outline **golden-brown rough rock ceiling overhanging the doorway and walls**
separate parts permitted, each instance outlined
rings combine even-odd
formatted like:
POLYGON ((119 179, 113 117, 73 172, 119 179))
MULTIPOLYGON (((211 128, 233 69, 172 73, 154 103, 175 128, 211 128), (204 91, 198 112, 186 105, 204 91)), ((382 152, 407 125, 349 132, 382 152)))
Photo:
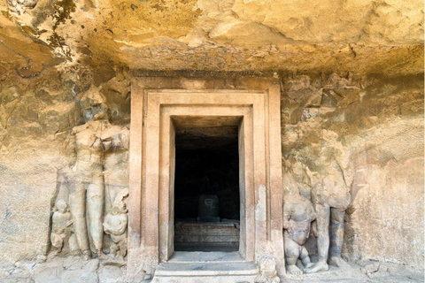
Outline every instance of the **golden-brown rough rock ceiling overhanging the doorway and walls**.
POLYGON ((423 73, 422 0, 0 0, 0 79, 51 66, 423 73))

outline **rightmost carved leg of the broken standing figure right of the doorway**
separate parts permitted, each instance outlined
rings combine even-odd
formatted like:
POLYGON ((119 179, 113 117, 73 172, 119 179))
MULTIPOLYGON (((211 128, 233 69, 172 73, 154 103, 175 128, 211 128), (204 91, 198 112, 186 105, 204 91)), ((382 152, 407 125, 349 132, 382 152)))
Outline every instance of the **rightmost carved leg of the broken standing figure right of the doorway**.
POLYGON ((341 253, 344 241, 344 215, 345 210, 330 209, 330 264, 340 266, 341 253))

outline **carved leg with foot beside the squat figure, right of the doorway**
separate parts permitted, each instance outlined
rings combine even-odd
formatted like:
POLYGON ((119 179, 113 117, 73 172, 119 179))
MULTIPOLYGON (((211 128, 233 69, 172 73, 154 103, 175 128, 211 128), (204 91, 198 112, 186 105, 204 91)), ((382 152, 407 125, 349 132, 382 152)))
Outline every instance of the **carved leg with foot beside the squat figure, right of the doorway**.
POLYGON ((328 251, 329 251, 329 217, 330 208, 328 203, 314 203, 317 218, 317 250, 319 261, 305 273, 328 271, 328 251))

